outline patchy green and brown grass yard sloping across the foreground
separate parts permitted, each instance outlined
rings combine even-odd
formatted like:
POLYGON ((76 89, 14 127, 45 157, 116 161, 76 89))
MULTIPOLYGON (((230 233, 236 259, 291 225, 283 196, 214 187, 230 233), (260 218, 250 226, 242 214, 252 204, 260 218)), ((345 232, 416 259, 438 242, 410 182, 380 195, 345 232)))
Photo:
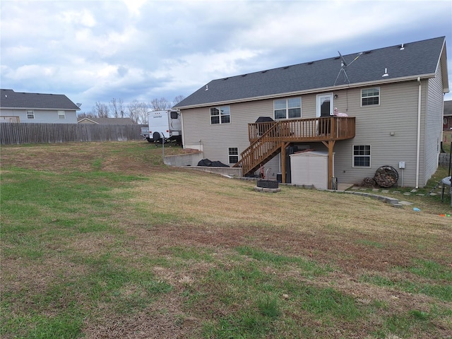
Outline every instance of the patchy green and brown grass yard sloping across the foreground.
POLYGON ((254 185, 145 142, 2 147, 1 338, 452 338, 448 203, 254 185))

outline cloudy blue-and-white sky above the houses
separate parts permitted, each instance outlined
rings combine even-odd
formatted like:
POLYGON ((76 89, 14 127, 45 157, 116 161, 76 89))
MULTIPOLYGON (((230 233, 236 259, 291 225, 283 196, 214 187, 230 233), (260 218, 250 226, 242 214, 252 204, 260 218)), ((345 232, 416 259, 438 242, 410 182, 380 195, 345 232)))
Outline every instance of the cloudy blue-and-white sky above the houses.
POLYGON ((1 0, 0 34, 1 88, 64 94, 81 112, 113 98, 172 102, 217 78, 440 36, 452 84, 447 0, 1 0))

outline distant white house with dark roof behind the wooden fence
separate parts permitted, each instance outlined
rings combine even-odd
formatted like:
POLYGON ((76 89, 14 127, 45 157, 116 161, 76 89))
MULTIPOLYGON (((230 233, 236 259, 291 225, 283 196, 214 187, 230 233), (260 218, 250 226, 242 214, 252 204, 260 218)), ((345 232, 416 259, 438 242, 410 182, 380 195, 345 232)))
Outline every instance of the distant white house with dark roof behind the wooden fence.
POLYGON ((0 92, 0 122, 77 124, 80 108, 66 95, 0 92))

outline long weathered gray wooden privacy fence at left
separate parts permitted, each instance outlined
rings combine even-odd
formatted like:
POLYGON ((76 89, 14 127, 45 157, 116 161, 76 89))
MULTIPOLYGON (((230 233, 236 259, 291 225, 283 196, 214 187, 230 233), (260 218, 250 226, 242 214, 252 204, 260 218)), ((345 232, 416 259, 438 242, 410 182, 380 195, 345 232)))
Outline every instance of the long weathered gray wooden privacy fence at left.
POLYGON ((0 144, 141 140, 141 126, 0 123, 0 144))

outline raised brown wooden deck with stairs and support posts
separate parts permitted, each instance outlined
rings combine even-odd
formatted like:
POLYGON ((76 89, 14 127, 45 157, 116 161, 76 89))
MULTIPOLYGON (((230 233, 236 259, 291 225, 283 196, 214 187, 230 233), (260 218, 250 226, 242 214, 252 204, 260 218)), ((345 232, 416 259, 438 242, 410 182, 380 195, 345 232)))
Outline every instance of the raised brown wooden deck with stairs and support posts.
MULTIPOLYGON (((328 148, 328 182, 333 173, 333 147, 335 141, 355 137, 355 117, 323 117, 292 119, 248 124, 250 145, 234 167, 242 167, 242 175, 255 172, 261 165, 281 153, 290 143, 321 142, 328 148)), ((285 182, 285 162, 282 162, 285 182)))

